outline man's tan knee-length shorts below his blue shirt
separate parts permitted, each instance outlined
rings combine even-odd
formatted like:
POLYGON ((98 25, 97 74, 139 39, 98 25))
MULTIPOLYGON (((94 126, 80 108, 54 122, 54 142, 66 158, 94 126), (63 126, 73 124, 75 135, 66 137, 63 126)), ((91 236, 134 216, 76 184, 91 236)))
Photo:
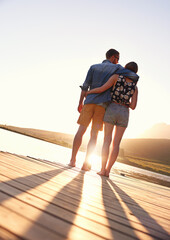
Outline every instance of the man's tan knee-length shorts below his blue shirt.
POLYGON ((97 104, 85 104, 77 123, 88 127, 92 120, 92 129, 102 131, 104 114, 104 107, 97 104))

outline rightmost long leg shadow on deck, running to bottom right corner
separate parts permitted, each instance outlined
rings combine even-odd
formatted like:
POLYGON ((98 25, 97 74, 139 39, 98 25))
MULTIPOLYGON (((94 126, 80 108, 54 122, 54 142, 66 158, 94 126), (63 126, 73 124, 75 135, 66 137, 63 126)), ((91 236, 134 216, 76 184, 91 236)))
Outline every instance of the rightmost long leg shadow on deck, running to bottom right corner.
POLYGON ((122 199, 122 202, 124 202, 126 204, 126 206, 128 207, 128 209, 131 211, 131 213, 136 218, 138 218, 138 220, 145 227, 146 232, 148 232, 148 234, 150 236, 154 237, 154 239, 160 239, 160 240, 169 239, 169 233, 165 229, 163 229, 163 227, 161 225, 159 225, 155 219, 153 219, 150 216, 149 212, 147 212, 145 209, 143 209, 127 193, 125 193, 120 187, 118 187, 115 183, 113 183, 112 180, 108 179, 106 181, 108 181, 108 183, 110 183, 112 185, 114 190, 117 192, 117 194, 122 199), (150 226, 148 226, 148 225, 150 225, 150 226))

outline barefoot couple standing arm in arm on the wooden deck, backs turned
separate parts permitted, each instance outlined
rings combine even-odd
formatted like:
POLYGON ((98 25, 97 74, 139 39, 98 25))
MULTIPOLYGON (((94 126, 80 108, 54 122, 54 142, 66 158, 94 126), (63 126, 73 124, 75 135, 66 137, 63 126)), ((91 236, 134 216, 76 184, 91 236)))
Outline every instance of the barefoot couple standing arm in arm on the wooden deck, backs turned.
POLYGON ((90 140, 82 166, 82 170, 89 171, 91 169, 89 157, 96 146, 98 132, 103 130, 104 121, 102 168, 98 174, 107 177, 109 177, 110 170, 116 161, 119 145, 128 125, 129 108, 135 109, 138 95, 136 87, 139 79, 136 74, 137 64, 130 62, 123 68, 118 64, 118 61, 119 52, 115 49, 108 50, 106 60, 100 64, 92 65, 83 86, 80 86, 82 89, 78 105, 80 116, 77 121, 79 128, 74 137, 69 163, 69 166, 75 166, 76 155, 81 146, 83 135, 92 120, 90 140), (115 134, 112 140, 114 126, 115 134), (111 142, 112 149, 109 154, 111 142))

